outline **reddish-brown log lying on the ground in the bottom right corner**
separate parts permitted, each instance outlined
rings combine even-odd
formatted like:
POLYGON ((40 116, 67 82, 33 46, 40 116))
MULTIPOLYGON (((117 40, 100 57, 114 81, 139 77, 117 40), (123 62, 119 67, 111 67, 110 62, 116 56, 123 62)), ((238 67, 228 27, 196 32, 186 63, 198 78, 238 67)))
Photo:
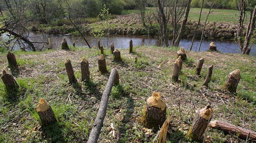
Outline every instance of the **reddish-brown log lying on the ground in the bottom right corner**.
POLYGON ((221 120, 214 120, 209 123, 211 128, 217 128, 218 130, 222 130, 227 134, 238 135, 240 139, 256 141, 256 132, 253 130, 248 130, 246 128, 242 128, 239 126, 235 126, 228 122, 224 122, 221 120))

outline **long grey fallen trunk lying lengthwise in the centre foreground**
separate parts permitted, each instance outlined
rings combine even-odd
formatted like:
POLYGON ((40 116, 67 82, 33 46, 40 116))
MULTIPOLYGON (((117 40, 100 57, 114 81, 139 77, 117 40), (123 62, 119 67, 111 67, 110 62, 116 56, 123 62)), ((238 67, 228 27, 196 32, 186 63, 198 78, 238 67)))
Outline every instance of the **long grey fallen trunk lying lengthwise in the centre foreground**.
POLYGON ((106 88, 103 91, 103 94, 102 94, 102 97, 100 100, 99 110, 98 110, 97 116, 94 120, 93 127, 91 128, 91 132, 90 132, 89 139, 88 139, 87 143, 97 143, 98 142, 100 130, 103 126, 103 121, 106 116, 106 108, 108 106, 108 98, 111 93, 111 89, 113 87, 114 81, 116 80, 115 78, 117 77, 116 76, 117 72, 118 72, 117 69, 111 70, 110 76, 108 78, 108 82, 106 84, 106 88))

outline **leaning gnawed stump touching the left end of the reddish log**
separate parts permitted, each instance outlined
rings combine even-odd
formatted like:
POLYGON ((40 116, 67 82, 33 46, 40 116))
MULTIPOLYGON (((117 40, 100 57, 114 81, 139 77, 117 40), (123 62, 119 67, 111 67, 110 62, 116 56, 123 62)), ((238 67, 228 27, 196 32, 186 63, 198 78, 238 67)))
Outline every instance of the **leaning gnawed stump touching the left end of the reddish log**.
POLYGON ((208 126, 208 122, 212 119, 213 110, 210 105, 206 105, 204 109, 201 109, 193 120, 192 126, 188 132, 187 137, 192 141, 199 141, 204 135, 204 131, 208 126))

